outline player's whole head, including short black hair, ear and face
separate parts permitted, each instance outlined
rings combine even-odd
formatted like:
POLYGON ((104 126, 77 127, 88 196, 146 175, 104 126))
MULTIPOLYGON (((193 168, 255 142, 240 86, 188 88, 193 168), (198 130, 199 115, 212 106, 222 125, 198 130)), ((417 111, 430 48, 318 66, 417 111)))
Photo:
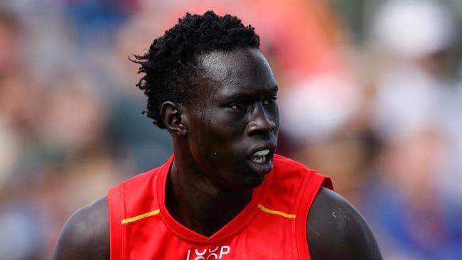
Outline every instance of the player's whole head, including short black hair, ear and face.
POLYGON ((278 87, 258 46, 253 28, 209 11, 180 19, 138 57, 148 116, 201 180, 248 189, 272 170, 278 87))

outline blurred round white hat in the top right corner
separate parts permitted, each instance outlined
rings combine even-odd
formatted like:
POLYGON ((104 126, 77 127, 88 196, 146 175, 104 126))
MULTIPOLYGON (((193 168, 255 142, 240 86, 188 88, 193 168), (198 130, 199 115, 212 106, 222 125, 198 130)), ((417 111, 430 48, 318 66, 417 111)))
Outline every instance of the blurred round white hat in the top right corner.
POLYGON ((374 23, 375 44, 402 61, 424 58, 456 39, 451 16, 439 1, 387 1, 374 23))

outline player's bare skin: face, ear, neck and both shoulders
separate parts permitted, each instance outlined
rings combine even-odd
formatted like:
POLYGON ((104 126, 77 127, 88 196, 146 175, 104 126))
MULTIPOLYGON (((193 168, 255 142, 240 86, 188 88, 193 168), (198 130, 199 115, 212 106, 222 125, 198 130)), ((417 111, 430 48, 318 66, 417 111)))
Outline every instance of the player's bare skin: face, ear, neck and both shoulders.
MULTIPOLYGON (((208 79, 200 101, 161 108, 175 156, 166 207, 185 227, 210 236, 248 204, 272 170, 279 109, 276 82, 259 50, 216 51, 198 61, 208 79), (255 163, 252 154, 262 149, 270 150, 267 161, 255 163)), ((382 259, 367 222, 332 190, 321 188, 306 221, 312 259, 382 259)), ((70 217, 53 259, 109 259, 106 197, 70 217)))

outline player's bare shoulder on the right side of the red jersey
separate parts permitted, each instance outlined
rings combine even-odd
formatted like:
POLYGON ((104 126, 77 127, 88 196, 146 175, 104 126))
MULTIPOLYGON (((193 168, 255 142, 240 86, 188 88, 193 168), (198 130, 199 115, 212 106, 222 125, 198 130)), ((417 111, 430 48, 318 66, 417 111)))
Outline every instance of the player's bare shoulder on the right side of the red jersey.
POLYGON ((306 221, 311 258, 382 259, 372 230, 348 200, 321 188, 306 221))

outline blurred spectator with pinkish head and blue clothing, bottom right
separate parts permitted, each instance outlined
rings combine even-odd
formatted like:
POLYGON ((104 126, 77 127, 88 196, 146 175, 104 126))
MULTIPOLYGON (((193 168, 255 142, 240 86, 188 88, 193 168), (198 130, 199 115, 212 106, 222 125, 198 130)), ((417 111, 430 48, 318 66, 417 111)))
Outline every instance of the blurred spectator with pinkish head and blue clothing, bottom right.
POLYGON ((434 126, 389 141, 375 168, 362 212, 385 259, 458 259, 462 205, 441 193, 446 136, 434 126))

